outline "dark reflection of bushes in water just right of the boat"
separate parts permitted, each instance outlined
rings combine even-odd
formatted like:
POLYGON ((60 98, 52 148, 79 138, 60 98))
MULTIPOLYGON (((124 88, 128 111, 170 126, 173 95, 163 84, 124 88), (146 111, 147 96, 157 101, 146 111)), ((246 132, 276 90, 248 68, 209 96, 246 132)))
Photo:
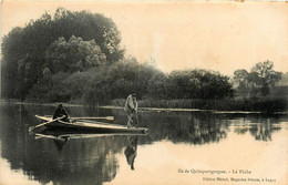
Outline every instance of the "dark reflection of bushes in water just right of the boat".
POLYGON ((213 114, 143 113, 141 122, 147 124, 153 141, 203 145, 226 138, 229 123, 213 114), (146 115, 148 114, 148 115, 146 115), (160 116, 161 115, 161 116, 160 116))

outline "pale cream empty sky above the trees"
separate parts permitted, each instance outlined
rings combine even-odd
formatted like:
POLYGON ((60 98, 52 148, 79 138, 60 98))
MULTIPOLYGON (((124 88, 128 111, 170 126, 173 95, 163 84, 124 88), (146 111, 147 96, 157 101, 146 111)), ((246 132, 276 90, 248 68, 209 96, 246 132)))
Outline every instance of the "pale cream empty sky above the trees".
POLYGON ((232 75, 266 60, 276 71, 288 71, 287 2, 4 0, 1 38, 59 7, 112 18, 126 54, 141 62, 153 59, 164 72, 206 69, 232 75))

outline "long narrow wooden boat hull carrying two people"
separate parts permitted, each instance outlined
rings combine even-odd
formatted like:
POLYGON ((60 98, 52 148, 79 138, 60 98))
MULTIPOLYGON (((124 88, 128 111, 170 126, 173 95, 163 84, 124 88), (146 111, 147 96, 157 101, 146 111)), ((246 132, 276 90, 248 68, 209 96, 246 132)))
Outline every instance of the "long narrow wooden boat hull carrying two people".
MULTIPOLYGON (((51 116, 35 115, 41 122, 51 122, 51 116)), ((146 133, 146 127, 127 127, 119 124, 110 124, 99 121, 75 120, 74 122, 64 122, 61 120, 45 124, 50 130, 61 130, 71 132, 90 132, 90 133, 146 133)))

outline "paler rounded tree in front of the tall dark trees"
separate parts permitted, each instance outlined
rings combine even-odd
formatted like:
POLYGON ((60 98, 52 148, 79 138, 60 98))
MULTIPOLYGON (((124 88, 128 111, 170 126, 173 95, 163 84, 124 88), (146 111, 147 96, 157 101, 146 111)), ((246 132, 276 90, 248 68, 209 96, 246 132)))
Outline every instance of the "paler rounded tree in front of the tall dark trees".
POLYGON ((59 38, 47 50, 45 64, 52 73, 84 71, 106 64, 106 56, 94 40, 83 41, 72 35, 66 42, 59 38))

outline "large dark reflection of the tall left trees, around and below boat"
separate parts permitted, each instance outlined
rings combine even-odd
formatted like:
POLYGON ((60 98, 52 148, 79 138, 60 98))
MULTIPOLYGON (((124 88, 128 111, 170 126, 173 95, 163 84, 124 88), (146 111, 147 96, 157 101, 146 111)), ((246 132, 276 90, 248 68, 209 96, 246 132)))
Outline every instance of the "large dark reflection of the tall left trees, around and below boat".
POLYGON ((1 107, 1 157, 11 163, 11 169, 22 169, 42 184, 102 184, 114 179, 119 167, 115 154, 125 147, 126 136, 34 140, 28 127, 38 122, 35 113, 28 110, 1 107))

